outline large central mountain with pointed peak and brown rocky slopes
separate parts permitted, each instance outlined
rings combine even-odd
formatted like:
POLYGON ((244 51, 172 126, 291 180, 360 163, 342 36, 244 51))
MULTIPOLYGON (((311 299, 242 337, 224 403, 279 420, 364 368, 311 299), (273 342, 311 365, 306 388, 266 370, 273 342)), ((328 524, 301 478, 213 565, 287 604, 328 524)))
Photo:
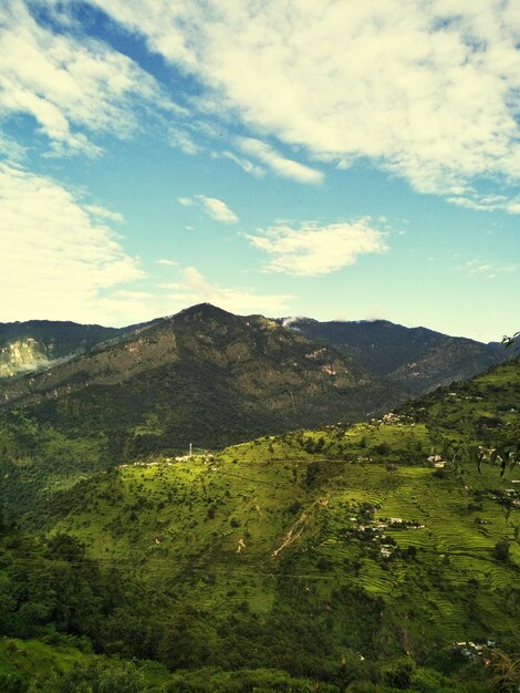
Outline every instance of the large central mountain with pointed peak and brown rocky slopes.
POLYGON ((404 393, 273 320, 200 304, 4 380, 0 399, 67 436, 104 436, 121 459, 358 421, 404 393))

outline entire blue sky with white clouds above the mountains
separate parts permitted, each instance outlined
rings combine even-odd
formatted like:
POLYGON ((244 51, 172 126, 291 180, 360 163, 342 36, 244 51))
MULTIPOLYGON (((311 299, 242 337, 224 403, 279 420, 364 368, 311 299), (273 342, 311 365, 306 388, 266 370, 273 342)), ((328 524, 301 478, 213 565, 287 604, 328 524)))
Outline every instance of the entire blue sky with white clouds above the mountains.
POLYGON ((0 321, 520 329, 518 0, 2 0, 0 321))

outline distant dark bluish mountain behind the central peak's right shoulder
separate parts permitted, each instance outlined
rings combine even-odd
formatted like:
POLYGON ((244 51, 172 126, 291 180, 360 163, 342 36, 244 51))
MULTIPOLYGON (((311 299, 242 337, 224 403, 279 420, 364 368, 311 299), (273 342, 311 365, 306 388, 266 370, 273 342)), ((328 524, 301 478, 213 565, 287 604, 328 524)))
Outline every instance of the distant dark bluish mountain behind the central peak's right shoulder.
POLYGON ((415 394, 472 377, 507 355, 490 344, 386 320, 319 322, 285 318, 281 323, 340 349, 370 372, 397 381, 415 394))

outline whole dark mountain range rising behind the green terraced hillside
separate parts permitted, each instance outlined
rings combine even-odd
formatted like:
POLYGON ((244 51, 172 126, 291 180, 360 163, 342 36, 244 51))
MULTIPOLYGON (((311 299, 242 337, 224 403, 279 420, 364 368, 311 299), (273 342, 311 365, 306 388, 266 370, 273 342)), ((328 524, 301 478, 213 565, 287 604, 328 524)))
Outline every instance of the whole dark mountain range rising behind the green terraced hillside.
POLYGON ((202 303, 119 330, 3 324, 0 359, 1 373, 14 373, 0 379, 3 410, 23 407, 67 436, 104 436, 119 459, 377 416, 502 356, 424 328, 239 317, 202 303))

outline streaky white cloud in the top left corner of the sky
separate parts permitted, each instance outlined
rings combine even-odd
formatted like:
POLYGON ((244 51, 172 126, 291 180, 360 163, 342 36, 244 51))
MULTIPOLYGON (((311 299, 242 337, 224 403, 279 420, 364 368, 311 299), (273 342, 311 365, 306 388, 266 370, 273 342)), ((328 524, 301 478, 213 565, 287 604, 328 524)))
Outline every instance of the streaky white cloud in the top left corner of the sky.
POLYGON ((129 58, 93 39, 53 33, 22 0, 2 3, 0 41, 0 118, 32 116, 51 156, 97 156, 91 136, 128 137, 143 108, 148 115, 185 113, 129 58))

